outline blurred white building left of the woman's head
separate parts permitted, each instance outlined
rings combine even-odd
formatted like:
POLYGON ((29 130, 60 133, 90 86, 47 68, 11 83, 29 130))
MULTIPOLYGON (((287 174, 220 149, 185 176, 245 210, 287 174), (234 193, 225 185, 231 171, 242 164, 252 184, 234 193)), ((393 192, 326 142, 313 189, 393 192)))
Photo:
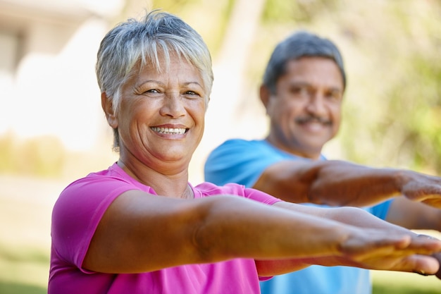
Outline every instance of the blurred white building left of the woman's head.
POLYGON ((0 0, 0 136, 89 149, 105 127, 94 74, 123 0, 0 0), (100 129, 100 130, 99 130, 100 129))

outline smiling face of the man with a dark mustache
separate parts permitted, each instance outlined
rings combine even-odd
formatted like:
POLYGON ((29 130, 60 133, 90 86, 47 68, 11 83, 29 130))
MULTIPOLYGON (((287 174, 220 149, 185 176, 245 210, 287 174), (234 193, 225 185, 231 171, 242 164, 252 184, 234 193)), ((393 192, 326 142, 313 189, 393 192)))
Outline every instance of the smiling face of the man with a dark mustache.
POLYGON ((332 59, 289 61, 275 94, 267 92, 266 101, 261 97, 271 118, 269 142, 286 152, 318 159, 323 145, 340 127, 343 92, 342 74, 332 59))

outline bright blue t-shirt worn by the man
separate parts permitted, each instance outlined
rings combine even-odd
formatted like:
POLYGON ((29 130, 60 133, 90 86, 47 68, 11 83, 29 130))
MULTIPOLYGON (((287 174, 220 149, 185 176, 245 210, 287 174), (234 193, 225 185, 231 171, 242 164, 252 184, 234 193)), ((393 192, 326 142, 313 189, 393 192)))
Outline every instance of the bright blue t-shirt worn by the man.
MULTIPOLYGON (((209 154, 204 167, 205 180, 216 185, 239 183, 252 187, 268 166, 282 160, 309 159, 277 149, 266 140, 227 140, 209 154)), ((390 202, 389 200, 364 209, 385 219, 390 202)), ((261 282, 261 293, 371 294, 372 283, 367 269, 313 265, 261 282)))

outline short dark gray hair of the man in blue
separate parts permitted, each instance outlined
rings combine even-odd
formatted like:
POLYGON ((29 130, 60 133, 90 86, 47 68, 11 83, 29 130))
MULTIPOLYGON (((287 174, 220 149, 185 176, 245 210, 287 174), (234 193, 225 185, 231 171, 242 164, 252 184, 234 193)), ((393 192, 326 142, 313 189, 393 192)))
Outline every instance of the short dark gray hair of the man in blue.
POLYGON ((347 80, 343 59, 337 46, 330 39, 318 37, 318 35, 305 31, 295 32, 275 47, 263 74, 263 85, 275 94, 276 83, 280 76, 286 73, 288 61, 301 59, 305 56, 320 56, 335 61, 342 74, 343 87, 346 87, 347 80))

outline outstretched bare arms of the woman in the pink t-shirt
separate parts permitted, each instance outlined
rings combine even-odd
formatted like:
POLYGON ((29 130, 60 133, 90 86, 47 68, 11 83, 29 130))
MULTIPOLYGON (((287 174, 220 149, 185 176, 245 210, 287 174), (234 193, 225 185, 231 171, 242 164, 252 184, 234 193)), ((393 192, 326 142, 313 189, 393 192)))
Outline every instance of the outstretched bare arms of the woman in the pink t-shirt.
MULTIPOLYGON (((108 207, 83 267, 135 273, 237 257, 316 258, 318 263, 325 257, 334 265, 437 271, 436 260, 417 255, 440 251, 440 241, 413 238, 410 231, 383 221, 375 227, 357 226, 361 220, 349 225, 344 222, 350 223, 354 215, 346 217, 345 209, 330 213, 284 205, 228 195, 177 200, 130 190, 108 207)), ((368 214, 364 218, 375 219, 368 214)), ((258 264, 259 274, 268 274, 263 265, 258 264)))

